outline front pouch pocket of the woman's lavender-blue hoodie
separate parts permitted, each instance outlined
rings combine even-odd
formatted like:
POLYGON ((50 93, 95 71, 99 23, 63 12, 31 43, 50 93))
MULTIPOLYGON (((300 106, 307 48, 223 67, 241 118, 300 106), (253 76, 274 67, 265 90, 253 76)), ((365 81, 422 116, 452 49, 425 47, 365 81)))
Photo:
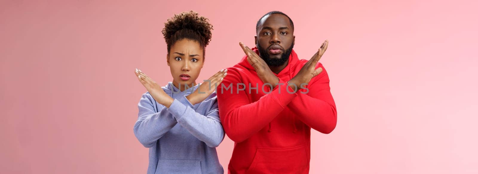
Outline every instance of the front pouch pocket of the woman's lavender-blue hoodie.
POLYGON ((154 174, 201 174, 201 161, 160 159, 154 174))

